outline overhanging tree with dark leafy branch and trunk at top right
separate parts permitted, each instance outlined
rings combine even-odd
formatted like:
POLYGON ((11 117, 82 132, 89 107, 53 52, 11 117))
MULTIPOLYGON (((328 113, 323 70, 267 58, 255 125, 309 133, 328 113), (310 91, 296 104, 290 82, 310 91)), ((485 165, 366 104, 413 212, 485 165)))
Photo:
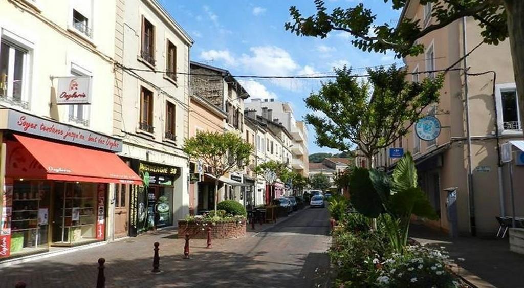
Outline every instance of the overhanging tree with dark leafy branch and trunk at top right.
MULTIPOLYGON (((405 8, 410 0, 384 0, 392 8, 405 8)), ((423 53, 424 46, 417 39, 431 31, 441 29, 462 17, 473 17, 483 29, 484 42, 498 45, 509 37, 513 70, 517 84, 521 122, 524 123, 524 1, 522 0, 420 0, 430 4, 434 19, 425 26, 424 21, 403 17, 396 27, 376 24, 376 15, 363 3, 343 9, 337 7, 331 13, 322 0, 314 0, 316 14, 303 17, 296 6, 289 8, 291 21, 286 30, 299 36, 325 38, 332 31, 343 31, 353 38, 351 43, 363 51, 396 52, 397 57, 416 56, 423 53)))

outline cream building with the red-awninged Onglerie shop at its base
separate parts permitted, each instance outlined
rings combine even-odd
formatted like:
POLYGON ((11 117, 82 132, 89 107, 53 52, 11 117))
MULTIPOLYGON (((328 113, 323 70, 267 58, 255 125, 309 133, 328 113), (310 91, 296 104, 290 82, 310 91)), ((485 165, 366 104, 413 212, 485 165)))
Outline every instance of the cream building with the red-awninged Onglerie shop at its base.
POLYGON ((115 14, 111 0, 0 2, 0 261, 119 233, 115 187, 142 181, 112 136, 115 14))

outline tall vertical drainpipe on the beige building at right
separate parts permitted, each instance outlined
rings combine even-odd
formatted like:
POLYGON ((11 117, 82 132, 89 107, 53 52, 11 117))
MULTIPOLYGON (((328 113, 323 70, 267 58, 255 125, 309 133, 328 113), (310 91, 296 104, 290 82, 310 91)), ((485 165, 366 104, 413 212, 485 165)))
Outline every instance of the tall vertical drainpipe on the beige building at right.
MULTIPOLYGON (((462 17, 462 49, 464 56, 467 54, 467 43, 466 43, 466 17, 462 17)), ((466 110, 466 137, 467 137, 467 189, 469 198, 469 211, 470 211, 470 232, 472 236, 476 235, 475 225, 475 197, 473 190, 473 167, 471 164, 471 131, 470 131, 470 98, 467 84, 467 57, 464 57, 464 97, 466 110)))

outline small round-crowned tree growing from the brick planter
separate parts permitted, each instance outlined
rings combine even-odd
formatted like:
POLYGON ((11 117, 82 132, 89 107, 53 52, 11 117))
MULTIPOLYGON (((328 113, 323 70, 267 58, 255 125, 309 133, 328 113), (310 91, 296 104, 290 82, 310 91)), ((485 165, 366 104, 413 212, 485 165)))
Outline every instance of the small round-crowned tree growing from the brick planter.
POLYGON ((234 132, 198 132, 186 139, 183 151, 190 159, 203 161, 215 178, 215 213, 219 201, 219 178, 234 168, 243 168, 253 146, 234 132))

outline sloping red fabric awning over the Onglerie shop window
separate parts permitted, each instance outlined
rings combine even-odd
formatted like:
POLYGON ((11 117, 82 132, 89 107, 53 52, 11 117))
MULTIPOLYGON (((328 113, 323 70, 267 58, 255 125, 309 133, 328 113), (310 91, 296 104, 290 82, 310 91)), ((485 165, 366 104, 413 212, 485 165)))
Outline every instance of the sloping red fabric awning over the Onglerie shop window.
POLYGON ((14 136, 21 146, 17 147, 16 142, 7 145, 8 177, 142 184, 140 177, 116 154, 26 136, 14 136))

